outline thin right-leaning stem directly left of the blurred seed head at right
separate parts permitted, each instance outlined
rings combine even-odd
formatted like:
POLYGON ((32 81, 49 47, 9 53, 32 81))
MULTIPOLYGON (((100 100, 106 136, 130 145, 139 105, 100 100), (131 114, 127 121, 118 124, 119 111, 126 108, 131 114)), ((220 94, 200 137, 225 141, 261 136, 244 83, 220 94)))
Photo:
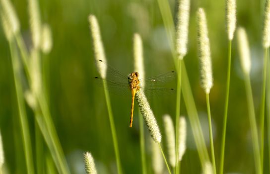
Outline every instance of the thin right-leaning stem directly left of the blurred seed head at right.
POLYGON ((229 40, 229 42, 228 42, 226 96, 225 96, 225 107, 224 107, 224 116, 223 116, 223 129, 222 129, 222 142, 221 142, 221 150, 220 150, 219 174, 223 174, 223 168, 224 168, 224 152, 225 152, 228 103, 229 103, 229 92, 230 92, 230 78, 231 78, 231 52, 232 52, 232 41, 229 40))

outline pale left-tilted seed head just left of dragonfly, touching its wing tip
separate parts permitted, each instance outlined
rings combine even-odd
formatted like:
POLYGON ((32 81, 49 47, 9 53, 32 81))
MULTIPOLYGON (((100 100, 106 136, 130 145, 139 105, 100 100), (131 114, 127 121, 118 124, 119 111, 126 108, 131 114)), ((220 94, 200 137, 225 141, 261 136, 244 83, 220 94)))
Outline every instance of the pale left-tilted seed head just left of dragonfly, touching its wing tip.
POLYGON ((105 79, 107 66, 104 63, 103 64, 100 63, 99 60, 106 62, 106 57, 105 57, 105 52, 104 52, 104 48, 103 48, 103 43, 101 40, 101 35, 100 35, 100 30, 99 30, 97 18, 96 18, 96 16, 90 14, 88 16, 88 21, 90 23, 90 30, 91 30, 92 38, 93 38, 93 45, 94 45, 94 52, 95 52, 95 59, 96 59, 96 63, 97 63, 97 68, 98 68, 98 71, 99 71, 101 78, 105 79))

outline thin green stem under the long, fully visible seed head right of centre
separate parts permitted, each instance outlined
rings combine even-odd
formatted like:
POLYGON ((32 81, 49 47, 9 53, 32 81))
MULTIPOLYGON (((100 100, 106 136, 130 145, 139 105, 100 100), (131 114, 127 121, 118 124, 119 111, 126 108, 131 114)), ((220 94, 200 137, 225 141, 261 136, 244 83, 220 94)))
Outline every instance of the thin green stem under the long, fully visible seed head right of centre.
POLYGON ((213 129, 212 129, 212 121, 211 121, 209 93, 206 93, 206 104, 207 104, 207 116, 208 116, 208 125, 209 125, 209 139, 210 139, 210 147, 211 147, 212 165, 213 165, 214 174, 216 174, 213 129))

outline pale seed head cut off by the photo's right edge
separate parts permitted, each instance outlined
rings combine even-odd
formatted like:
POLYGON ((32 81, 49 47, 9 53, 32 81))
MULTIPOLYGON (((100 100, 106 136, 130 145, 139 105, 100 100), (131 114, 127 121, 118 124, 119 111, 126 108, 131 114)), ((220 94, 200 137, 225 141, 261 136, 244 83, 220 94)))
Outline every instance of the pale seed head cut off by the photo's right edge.
POLYGON ((270 0, 266 0, 266 6, 265 6, 263 46, 265 48, 270 47, 270 0))

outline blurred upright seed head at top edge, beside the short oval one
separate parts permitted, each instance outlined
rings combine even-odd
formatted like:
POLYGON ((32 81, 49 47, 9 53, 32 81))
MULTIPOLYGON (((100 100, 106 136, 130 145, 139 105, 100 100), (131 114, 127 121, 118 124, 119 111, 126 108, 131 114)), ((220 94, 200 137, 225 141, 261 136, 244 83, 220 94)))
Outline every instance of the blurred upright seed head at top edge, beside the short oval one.
POLYGON ((38 0, 28 0, 28 10, 33 46, 39 48, 41 44, 41 20, 38 0))

